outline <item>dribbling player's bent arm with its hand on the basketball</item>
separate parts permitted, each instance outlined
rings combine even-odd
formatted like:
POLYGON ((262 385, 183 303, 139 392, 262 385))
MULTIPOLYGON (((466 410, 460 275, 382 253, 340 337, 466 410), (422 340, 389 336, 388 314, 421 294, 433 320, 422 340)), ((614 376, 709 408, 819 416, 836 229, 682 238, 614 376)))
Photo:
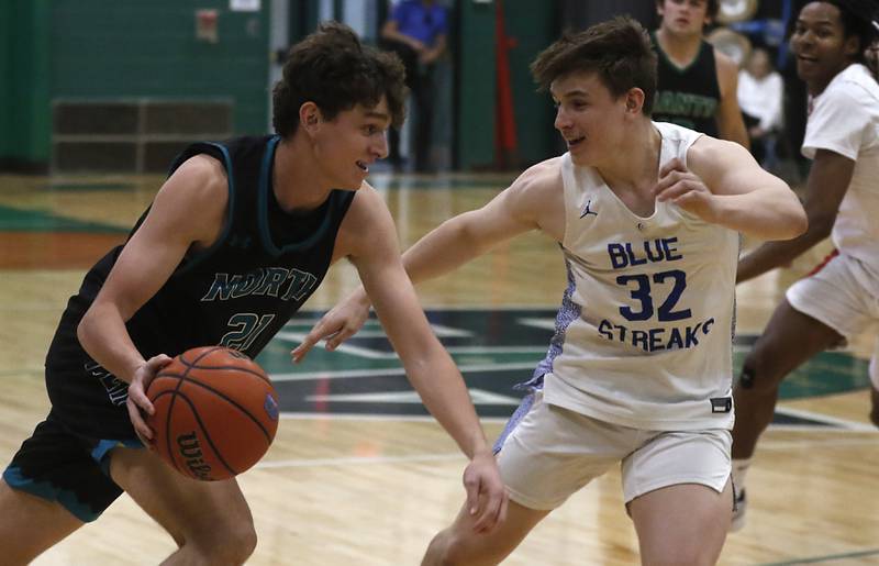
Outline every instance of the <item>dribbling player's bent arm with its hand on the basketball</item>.
POLYGON ((152 431, 140 409, 153 410, 144 388, 170 358, 156 356, 147 363, 125 322, 162 288, 191 245, 216 238, 226 200, 226 177, 219 162, 197 156, 181 165, 159 189, 77 329, 86 352, 130 384, 129 414, 144 439, 151 439, 152 431))

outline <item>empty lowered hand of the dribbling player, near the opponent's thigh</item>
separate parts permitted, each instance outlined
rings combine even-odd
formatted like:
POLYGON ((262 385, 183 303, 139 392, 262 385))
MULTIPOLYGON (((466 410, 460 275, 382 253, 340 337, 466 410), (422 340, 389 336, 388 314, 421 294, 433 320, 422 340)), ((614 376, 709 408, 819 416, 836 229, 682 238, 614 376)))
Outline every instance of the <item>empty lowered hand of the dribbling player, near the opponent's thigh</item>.
POLYGON ((490 451, 480 452, 470 460, 464 470, 464 488, 474 531, 488 533, 507 519, 507 488, 490 451))

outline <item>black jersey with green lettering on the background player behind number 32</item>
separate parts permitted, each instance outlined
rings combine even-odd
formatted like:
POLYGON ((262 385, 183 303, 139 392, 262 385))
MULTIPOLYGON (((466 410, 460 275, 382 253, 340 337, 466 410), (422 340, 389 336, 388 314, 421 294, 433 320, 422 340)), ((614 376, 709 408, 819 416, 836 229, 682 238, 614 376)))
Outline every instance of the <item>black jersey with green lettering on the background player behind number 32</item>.
POLYGON ((714 47, 703 40, 692 63, 680 68, 659 46, 656 32, 650 34, 650 40, 658 59, 656 99, 650 118, 655 122, 671 122, 716 137, 721 87, 714 47))

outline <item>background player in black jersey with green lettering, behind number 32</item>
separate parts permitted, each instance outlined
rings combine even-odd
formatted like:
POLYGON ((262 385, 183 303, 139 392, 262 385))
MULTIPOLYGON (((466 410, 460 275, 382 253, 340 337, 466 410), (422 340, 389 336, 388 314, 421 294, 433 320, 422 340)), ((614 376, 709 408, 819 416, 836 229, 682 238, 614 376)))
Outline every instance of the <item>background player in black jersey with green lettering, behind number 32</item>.
POLYGON ((719 0, 656 0, 661 18, 650 34, 658 57, 653 119, 749 147, 738 108, 738 66, 702 38, 719 0))

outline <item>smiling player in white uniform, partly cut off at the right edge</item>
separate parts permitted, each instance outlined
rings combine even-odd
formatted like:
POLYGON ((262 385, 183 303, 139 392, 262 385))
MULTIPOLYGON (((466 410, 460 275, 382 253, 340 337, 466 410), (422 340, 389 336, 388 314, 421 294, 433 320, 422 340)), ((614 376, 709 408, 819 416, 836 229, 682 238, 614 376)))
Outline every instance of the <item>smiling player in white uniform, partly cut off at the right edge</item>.
MULTIPOLYGON (((766 243, 742 258, 745 281, 783 265, 832 236, 834 254, 798 281, 745 359, 735 390, 733 475, 744 525, 745 476, 769 425, 781 380, 805 360, 879 321, 879 85, 866 48, 879 40, 875 0, 803 7, 791 35, 797 73, 811 112, 802 153, 812 159, 805 190, 809 231, 766 243)), ((879 344, 869 365, 870 418, 879 426, 879 344)))

